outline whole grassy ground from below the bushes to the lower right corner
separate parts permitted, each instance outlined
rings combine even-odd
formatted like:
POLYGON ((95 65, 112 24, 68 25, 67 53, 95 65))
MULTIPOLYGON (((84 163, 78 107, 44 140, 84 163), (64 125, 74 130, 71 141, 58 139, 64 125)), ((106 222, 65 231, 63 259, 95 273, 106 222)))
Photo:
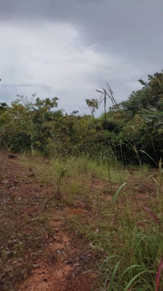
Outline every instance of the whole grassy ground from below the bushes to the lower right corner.
POLYGON ((21 163, 34 168, 37 178, 53 190, 50 198, 44 197, 46 213, 56 205, 75 206, 79 201, 89 209, 87 220, 86 213, 67 217, 67 227, 79 237, 88 238, 97 261, 102 258, 97 290, 155 291, 158 284, 161 291, 162 164, 158 170, 145 166, 122 170, 85 157, 57 161, 51 159, 47 164, 35 155, 21 163), (58 181, 65 169, 67 175, 60 180, 62 196, 58 200, 58 181))

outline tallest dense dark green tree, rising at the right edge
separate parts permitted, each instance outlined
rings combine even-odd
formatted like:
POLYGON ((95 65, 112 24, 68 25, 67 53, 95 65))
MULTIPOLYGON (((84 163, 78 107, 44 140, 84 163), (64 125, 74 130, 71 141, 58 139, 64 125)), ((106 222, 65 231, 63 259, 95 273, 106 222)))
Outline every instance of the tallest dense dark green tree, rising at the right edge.
MULTIPOLYGON (((136 162, 134 147, 140 154, 141 162, 151 161, 140 151, 148 152, 158 162, 163 148, 163 71, 148 75, 148 81, 140 79, 139 82, 143 88, 133 92, 114 111, 111 108, 108 116, 117 120, 121 114, 121 134, 117 140, 122 141, 122 155, 119 156, 123 161, 136 162)), ((120 146, 116 148, 120 153, 120 146)))

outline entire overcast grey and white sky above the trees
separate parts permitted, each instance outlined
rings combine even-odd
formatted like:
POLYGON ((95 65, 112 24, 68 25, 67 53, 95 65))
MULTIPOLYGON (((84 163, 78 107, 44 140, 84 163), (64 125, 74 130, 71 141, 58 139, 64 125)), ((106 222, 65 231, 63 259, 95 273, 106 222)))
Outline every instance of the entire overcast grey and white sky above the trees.
POLYGON ((106 81, 122 101, 161 69, 163 0, 0 0, 0 102, 36 92, 89 113, 106 81))

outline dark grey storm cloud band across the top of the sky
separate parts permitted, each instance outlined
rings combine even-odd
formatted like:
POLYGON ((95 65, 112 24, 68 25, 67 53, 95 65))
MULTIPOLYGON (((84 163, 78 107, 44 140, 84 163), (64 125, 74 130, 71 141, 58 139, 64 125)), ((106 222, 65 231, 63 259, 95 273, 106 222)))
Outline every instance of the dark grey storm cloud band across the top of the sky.
POLYGON ((162 67, 162 0, 5 0, 0 19, 71 23, 80 41, 99 51, 140 64, 151 59, 162 67))

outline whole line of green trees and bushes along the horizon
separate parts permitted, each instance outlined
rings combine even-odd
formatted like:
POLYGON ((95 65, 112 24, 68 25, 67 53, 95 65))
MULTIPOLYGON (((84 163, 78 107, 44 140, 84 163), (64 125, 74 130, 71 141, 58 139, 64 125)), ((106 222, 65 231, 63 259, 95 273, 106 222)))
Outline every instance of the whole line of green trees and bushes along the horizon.
POLYGON ((139 82, 142 89, 120 103, 110 87, 99 91, 100 99, 86 99, 90 115, 64 113, 57 97, 40 99, 35 94, 30 101, 17 96, 10 106, 0 103, 0 147, 37 150, 48 157, 87 155, 122 164, 158 163, 163 155, 163 71, 139 82), (109 108, 106 98, 113 104, 109 108), (95 118, 101 103, 104 113, 95 118))

